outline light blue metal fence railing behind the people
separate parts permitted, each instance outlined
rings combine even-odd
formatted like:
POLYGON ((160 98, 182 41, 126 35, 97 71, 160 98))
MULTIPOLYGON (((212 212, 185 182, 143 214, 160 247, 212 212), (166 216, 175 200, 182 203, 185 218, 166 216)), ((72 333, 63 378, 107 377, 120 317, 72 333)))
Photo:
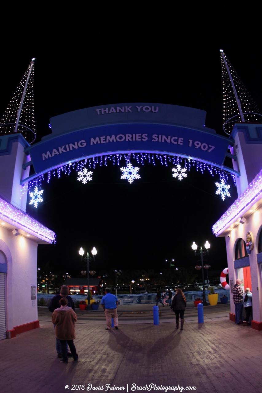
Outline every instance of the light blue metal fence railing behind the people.
MULTIPOLYGON (((223 296, 227 296, 229 298, 229 289, 218 289, 216 290, 216 293, 218 293, 218 301, 220 301, 220 298, 223 298, 223 296)), ((193 301, 196 298, 201 298, 203 300, 203 291, 188 291, 184 292, 186 301, 193 301)), ((209 290, 205 291, 205 297, 206 301, 208 302, 208 294, 210 294, 209 290)), ((174 296, 175 293, 173 293, 172 296, 174 296)), ((37 294, 37 305, 46 305, 48 306, 50 303, 50 300, 53 298, 55 295, 47 295, 47 294, 37 294), (41 300, 42 299, 42 300, 41 300)), ((71 298, 74 301, 74 304, 76 305, 77 301, 85 300, 87 298, 87 295, 70 295, 71 298)), ((97 303, 101 304, 101 299, 103 298, 104 295, 93 295, 93 299, 96 300, 97 303)), ((117 295, 119 304, 141 304, 141 303, 155 303, 156 294, 132 294, 132 295, 117 295)))

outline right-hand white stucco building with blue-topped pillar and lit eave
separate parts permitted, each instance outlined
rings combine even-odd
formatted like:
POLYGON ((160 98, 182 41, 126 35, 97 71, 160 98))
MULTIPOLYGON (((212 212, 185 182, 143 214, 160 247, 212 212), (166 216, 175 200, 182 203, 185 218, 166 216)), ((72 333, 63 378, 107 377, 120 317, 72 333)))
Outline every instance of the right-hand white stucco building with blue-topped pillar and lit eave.
MULTIPOLYGON (((253 329, 262 329, 262 124, 234 125, 231 153, 238 198, 214 224, 216 236, 224 236, 227 247, 229 285, 231 286, 230 319, 235 320, 232 286, 243 280, 243 292, 253 293, 253 329)), ((226 266, 225 266, 226 267, 226 266)))

